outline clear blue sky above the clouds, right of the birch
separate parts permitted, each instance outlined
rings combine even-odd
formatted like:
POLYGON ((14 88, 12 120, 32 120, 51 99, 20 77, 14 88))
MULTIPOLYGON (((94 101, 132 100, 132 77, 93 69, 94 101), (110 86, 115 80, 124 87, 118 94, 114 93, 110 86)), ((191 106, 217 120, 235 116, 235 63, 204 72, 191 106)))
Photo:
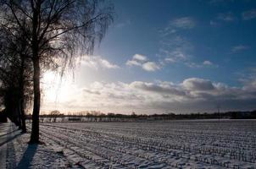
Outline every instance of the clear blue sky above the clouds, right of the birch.
MULTIPOLYGON (((161 42, 168 39, 175 43, 180 36, 192 49, 187 51, 189 62, 202 64, 209 60, 218 68, 189 68, 186 65, 168 64, 154 75, 138 73, 126 80, 161 77, 163 80, 181 81, 190 76, 213 79, 231 85, 237 82, 237 73, 255 67, 255 19, 243 19, 242 13, 256 8, 256 2, 208 1, 114 1, 117 19, 103 40, 97 54, 108 57, 114 63, 124 64, 135 53, 157 62, 165 57, 161 42), (226 17, 226 18, 225 18, 226 17), (228 18, 230 17, 230 18, 228 18), (173 28, 176 33, 164 37, 161 30, 175 19, 187 18, 188 28, 173 28), (226 19, 226 20, 225 20, 226 19), (191 21, 191 23, 189 23, 191 21), (189 27, 189 24, 192 27, 189 27), (239 50, 239 46, 240 50, 239 50), (237 47, 236 52, 232 52, 237 47), (130 79, 131 78, 131 79, 130 79)), ((254 11, 255 13, 255 11, 254 11)), ((185 45, 185 44, 181 44, 185 45)), ((185 46, 186 47, 186 46, 185 46)), ((172 49, 174 50, 174 49, 172 49)), ((126 71, 126 70, 125 70, 126 71)), ((141 72, 139 68, 137 72, 141 72)), ((123 74, 121 74, 123 76, 123 74)))

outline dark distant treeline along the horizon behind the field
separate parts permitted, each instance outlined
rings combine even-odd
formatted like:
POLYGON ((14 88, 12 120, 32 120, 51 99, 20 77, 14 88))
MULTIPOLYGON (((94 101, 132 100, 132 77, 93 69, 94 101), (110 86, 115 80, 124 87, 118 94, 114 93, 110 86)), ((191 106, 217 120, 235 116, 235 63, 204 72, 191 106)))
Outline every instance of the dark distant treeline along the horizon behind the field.
MULTIPOLYGON (((27 116, 31 119, 31 115, 27 116)), ((184 119, 256 119, 256 110, 249 112, 214 112, 214 113, 189 113, 189 114, 136 114, 132 112, 128 114, 115 114, 109 112, 74 112, 60 113, 58 111, 50 112, 40 116, 41 123, 47 122, 142 122, 142 121, 158 121, 158 120, 184 120, 184 119)))

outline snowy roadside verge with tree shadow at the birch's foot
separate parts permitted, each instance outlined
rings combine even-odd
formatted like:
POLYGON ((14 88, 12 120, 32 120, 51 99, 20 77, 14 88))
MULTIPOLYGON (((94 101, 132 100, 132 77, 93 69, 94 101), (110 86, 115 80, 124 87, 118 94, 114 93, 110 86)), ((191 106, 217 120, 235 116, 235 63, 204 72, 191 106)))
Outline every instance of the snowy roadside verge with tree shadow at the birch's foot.
MULTIPOLYGON (((64 155, 49 144, 27 144, 30 134, 20 134, 14 123, 0 123, 0 168, 69 168, 64 155)), ((47 141, 42 138, 43 141, 47 141)))

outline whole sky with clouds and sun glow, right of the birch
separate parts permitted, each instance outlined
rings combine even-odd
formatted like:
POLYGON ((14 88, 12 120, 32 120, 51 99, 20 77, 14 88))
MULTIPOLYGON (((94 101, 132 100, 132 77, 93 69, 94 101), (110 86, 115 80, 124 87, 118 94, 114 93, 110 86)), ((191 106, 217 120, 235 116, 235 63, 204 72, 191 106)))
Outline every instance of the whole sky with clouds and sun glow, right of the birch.
POLYGON ((42 111, 256 109, 256 1, 113 3, 114 24, 75 78, 44 75, 42 111))

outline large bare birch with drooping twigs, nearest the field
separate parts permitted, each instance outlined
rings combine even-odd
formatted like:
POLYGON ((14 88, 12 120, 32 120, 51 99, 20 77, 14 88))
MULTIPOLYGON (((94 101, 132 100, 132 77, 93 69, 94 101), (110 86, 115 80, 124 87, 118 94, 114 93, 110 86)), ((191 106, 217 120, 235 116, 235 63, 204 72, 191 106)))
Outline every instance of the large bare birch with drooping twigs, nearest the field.
POLYGON ((0 5, 1 24, 21 30, 31 47, 34 104, 30 142, 38 143, 42 70, 58 68, 62 75, 65 68, 74 68, 77 57, 92 53, 113 20, 113 7, 100 0, 1 0, 0 5))

